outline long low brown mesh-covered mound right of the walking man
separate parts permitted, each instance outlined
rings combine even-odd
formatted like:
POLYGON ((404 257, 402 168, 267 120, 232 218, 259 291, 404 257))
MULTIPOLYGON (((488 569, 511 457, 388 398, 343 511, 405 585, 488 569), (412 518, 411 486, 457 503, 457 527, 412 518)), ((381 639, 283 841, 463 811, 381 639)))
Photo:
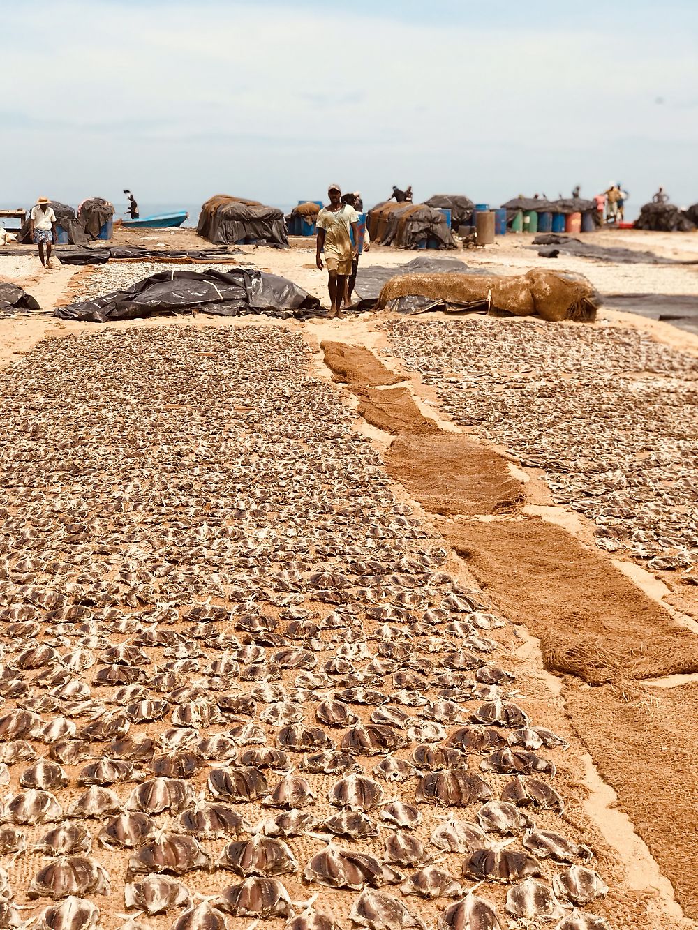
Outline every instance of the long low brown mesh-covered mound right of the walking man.
POLYGON ((396 301, 421 297, 446 306, 480 309, 544 320, 595 320, 600 298, 582 275, 533 268, 525 274, 405 274, 383 286, 379 307, 399 310, 396 301))

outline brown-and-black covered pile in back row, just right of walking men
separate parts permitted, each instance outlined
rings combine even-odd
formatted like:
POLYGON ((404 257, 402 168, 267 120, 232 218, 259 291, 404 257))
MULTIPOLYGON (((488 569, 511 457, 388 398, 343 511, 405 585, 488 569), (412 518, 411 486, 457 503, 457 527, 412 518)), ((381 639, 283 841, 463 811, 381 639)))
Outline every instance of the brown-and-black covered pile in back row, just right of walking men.
POLYGON ((388 201, 369 210, 366 220, 371 242, 396 248, 456 248, 446 217, 426 204, 388 201))

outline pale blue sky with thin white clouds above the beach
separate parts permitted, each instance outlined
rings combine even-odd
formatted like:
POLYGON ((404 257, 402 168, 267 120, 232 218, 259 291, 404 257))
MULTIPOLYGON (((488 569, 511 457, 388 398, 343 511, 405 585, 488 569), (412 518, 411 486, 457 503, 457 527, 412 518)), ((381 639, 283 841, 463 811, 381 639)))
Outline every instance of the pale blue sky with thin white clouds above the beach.
POLYGON ((0 0, 0 203, 698 201, 696 0, 0 0))

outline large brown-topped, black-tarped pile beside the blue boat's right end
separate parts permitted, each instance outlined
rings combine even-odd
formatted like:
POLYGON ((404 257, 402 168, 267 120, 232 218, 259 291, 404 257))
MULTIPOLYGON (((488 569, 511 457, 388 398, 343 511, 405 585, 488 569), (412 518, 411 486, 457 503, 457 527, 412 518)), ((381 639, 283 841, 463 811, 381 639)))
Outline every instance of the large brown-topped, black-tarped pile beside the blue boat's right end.
POLYGON ((217 193, 201 206, 196 233, 222 246, 253 243, 288 246, 284 214, 258 200, 217 193))

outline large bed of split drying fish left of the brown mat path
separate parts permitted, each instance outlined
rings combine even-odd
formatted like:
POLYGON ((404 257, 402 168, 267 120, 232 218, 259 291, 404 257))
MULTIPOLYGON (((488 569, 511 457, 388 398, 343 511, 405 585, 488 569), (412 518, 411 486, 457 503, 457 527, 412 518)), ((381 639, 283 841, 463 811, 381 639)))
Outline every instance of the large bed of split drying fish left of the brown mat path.
POLYGON ((73 895, 117 927, 148 880, 161 912, 128 916, 153 927, 477 930, 519 885, 524 909, 603 914, 559 817, 565 744, 504 671, 511 626, 308 360, 277 326, 101 329, 0 375, 10 910, 56 898, 80 930, 73 895), (18 797, 30 769, 47 794, 18 797), (91 848, 36 851, 66 819, 91 848), (533 826, 557 859, 527 852, 533 826), (157 874, 210 897, 187 910, 157 874))

